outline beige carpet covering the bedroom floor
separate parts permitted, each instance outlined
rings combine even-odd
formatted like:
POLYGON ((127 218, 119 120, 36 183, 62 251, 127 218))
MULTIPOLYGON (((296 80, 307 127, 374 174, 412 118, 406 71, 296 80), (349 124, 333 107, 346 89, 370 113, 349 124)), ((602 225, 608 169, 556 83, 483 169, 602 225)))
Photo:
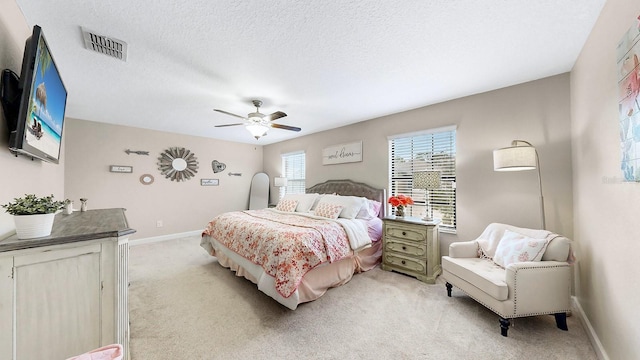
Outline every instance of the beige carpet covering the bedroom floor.
POLYGON ((441 279, 379 267, 291 311, 189 237, 131 248, 131 354, 144 359, 597 359, 576 316, 498 317, 441 279))

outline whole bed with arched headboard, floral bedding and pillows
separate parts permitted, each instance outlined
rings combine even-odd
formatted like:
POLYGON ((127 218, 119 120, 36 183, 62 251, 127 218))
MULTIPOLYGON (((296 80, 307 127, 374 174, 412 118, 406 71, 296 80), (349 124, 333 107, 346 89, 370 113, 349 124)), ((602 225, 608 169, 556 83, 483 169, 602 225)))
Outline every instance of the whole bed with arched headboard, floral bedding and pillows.
POLYGON ((385 189, 329 180, 285 195, 275 208, 216 216, 200 245, 295 310, 380 262, 385 202, 385 189))

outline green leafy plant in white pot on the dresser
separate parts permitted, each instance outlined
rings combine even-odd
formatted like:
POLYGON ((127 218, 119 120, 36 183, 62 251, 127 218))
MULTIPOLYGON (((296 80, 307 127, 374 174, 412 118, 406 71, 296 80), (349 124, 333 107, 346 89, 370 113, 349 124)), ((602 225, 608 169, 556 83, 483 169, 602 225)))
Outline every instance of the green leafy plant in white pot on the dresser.
POLYGON ((13 215, 18 239, 32 239, 51 235, 55 213, 64 208, 64 201, 54 200, 53 195, 25 194, 2 207, 13 215))

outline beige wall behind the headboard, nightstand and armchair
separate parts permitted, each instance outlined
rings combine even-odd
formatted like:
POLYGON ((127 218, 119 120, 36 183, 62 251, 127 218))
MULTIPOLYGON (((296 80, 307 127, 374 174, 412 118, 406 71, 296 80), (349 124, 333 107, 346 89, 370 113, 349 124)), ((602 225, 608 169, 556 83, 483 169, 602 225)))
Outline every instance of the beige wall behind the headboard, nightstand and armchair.
MULTIPOLYGON (((264 169, 280 175, 280 154, 304 150, 307 185, 349 178, 388 187, 388 140, 394 134, 457 125, 458 234, 442 236, 442 252, 475 239, 490 222, 539 227, 536 173, 493 171, 492 151, 522 139, 540 153, 547 228, 573 235, 569 75, 393 114, 264 148, 264 169), (322 165, 322 149, 362 140, 363 161, 322 165)), ((277 191, 272 188, 272 202, 277 191)))

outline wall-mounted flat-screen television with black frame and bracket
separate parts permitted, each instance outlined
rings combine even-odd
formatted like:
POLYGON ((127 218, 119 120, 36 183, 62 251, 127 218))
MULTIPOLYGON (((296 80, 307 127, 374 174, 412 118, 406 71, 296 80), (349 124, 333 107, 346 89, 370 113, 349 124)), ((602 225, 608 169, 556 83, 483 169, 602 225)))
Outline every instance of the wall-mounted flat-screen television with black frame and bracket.
MULTIPOLYGON (((12 93, 6 89, 3 92, 12 93)), ((10 150, 57 164, 60 160, 67 90, 38 25, 33 27, 32 35, 26 41, 18 89, 13 93, 20 99, 17 111, 7 111, 6 108, 12 105, 5 104, 7 101, 3 99, 5 114, 16 116, 15 119, 7 119, 10 150)))

